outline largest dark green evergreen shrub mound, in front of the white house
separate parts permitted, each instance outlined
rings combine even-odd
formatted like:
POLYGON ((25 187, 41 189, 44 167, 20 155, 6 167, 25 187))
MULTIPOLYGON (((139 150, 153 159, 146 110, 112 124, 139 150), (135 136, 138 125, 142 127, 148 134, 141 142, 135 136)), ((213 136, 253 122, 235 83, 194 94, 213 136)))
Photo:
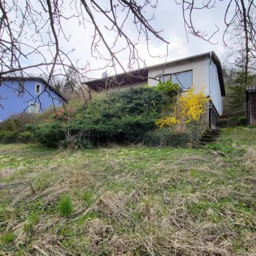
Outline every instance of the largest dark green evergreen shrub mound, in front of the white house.
POLYGON ((82 132, 94 143, 139 143, 145 132, 155 129, 166 102, 163 91, 154 88, 99 95, 86 110, 77 110, 69 130, 73 135, 82 132))

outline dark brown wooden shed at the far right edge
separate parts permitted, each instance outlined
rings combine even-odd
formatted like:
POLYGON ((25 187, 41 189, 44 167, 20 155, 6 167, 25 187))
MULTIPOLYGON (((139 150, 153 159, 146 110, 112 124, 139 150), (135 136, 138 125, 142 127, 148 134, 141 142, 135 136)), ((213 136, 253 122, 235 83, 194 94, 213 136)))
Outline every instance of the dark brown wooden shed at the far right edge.
POLYGON ((246 88, 247 124, 256 124, 256 85, 246 88))

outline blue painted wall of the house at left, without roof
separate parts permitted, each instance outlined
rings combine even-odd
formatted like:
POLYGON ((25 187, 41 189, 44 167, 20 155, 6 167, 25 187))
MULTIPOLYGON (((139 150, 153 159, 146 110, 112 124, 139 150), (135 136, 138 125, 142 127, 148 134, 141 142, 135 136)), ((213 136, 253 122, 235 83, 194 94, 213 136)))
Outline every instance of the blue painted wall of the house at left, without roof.
MULTIPOLYGON (((11 114, 23 112, 24 109, 27 106, 29 106, 29 102, 39 104, 38 99, 37 99, 37 102, 35 102, 35 98, 37 98, 38 96, 38 94, 35 93, 35 84, 41 85, 41 91, 43 91, 44 88, 46 87, 46 84, 44 84, 44 82, 41 80, 24 81, 24 87, 32 96, 34 96, 34 99, 33 99, 33 97, 29 93, 27 93, 26 90, 23 95, 21 95, 20 97, 17 96, 17 92, 15 91, 15 89, 18 88, 17 81, 15 80, 2 81, 0 86, 0 95, 2 98, 7 98, 7 99, 1 99, 0 104, 4 107, 4 109, 2 110, 2 108, 0 107, 0 120, 6 119, 11 114), (9 88, 7 86, 10 86, 12 88, 9 88)), ((46 88, 46 90, 49 91, 49 88, 46 88)), ((51 96, 53 98, 56 98, 54 100, 55 105, 62 104, 57 99, 59 99, 62 102, 63 102, 63 99, 59 96, 59 94, 55 93, 55 91, 51 90, 51 96)), ((41 102, 41 108, 43 108, 43 110, 46 110, 47 108, 53 105, 52 98, 49 97, 49 94, 46 91, 44 91, 44 93, 40 95, 40 102, 41 102)), ((28 108, 26 111, 28 112, 28 108)))

